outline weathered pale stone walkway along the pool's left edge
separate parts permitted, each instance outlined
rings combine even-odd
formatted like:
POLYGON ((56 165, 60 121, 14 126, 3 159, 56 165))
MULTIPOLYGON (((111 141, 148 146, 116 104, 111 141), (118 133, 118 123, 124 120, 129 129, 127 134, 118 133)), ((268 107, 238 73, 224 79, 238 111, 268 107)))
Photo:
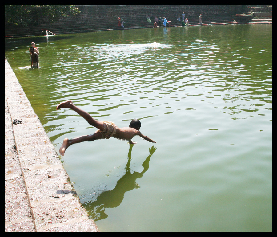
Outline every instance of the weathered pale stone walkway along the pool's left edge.
POLYGON ((5 232, 99 232, 7 60, 5 232))

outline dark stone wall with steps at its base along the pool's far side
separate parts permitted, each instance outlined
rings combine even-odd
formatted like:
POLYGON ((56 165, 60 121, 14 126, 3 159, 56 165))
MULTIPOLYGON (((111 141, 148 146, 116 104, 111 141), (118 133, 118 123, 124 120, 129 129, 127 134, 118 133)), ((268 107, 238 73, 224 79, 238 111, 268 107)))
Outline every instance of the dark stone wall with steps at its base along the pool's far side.
MULTIPOLYGON (((78 16, 63 18, 53 24, 49 24, 43 16, 34 19, 34 23, 39 24, 27 29, 5 22, 5 37, 42 35, 42 29, 57 35, 122 30, 118 27, 118 16, 124 19, 124 29, 153 28, 155 16, 165 16, 167 21, 171 21, 171 27, 179 27, 182 24, 177 21, 177 15, 183 11, 186 12, 190 26, 200 25, 199 14, 202 14, 202 25, 236 24, 226 10, 229 5, 79 5, 78 7, 81 10, 78 16), (151 23, 146 21, 148 15, 151 23)), ((182 18, 181 15, 180 17, 182 18)))

